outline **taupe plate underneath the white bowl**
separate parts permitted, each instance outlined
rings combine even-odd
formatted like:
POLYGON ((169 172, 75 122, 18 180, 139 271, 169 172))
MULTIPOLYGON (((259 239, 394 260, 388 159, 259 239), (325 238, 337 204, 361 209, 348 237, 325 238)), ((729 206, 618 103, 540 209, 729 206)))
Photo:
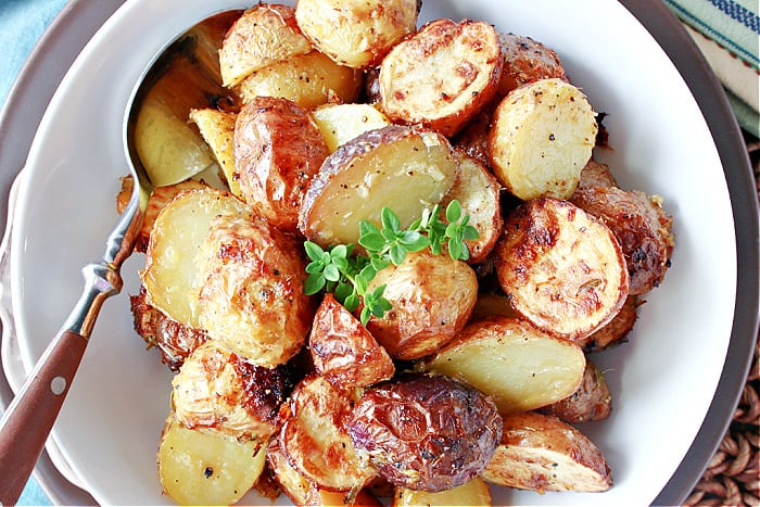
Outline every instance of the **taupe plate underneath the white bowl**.
MULTIPOLYGON (((737 277, 734 320, 721 380, 689 451, 654 502, 655 505, 679 505, 688 496, 720 445, 751 364, 760 318, 758 200, 740 129, 725 92, 677 17, 658 0, 620 2, 671 59, 705 116, 731 194, 736 231, 735 261, 742 269, 742 276, 737 277)), ((92 5, 84 0, 71 0, 24 64, 0 111, 0 144, 11 147, 0 151, 0 167, 5 168, 0 172, 0 200, 3 202, 8 202, 36 126, 68 65, 122 3, 124 0, 107 0, 92 5), (39 75, 45 75, 45 79, 36 78, 39 75)), ((9 211, 0 206, 0 230, 5 228, 8 217, 9 211)), ((7 379, 0 376, 0 407, 7 406, 11 397, 7 379)), ((39 461, 35 477, 56 504, 93 504, 92 497, 69 484, 46 455, 39 461)))

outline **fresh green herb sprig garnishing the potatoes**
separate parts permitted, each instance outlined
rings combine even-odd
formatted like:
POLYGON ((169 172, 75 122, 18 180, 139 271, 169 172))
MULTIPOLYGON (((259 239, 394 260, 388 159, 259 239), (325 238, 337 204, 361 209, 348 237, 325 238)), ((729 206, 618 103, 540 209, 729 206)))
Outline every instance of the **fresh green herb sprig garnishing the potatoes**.
POLYGON ((470 216, 463 216, 461 205, 456 200, 446 206, 446 223, 441 220, 440 214, 438 204, 432 210, 426 207, 418 220, 407 229, 402 229, 398 216, 383 207, 380 216, 382 228, 367 220, 359 223, 358 243, 366 255, 354 254, 353 243, 333 245, 326 251, 312 241, 304 242, 311 261, 306 266, 308 278, 304 292, 332 292, 350 312, 364 303, 359 315, 364 325, 367 325, 372 315, 382 317, 392 308, 391 303, 383 297, 385 286, 368 291, 369 282, 378 271, 391 264, 398 266, 407 253, 420 252, 427 248, 439 255, 444 243, 452 258, 470 258, 465 241, 476 240, 479 236, 478 229, 469 225, 470 216))

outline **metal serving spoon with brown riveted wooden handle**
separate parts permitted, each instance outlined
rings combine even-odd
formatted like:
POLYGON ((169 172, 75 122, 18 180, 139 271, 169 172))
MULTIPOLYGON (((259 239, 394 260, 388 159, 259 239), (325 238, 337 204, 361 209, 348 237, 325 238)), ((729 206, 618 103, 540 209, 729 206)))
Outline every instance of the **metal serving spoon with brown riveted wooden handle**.
MULTIPOLYGON (((2 506, 18 500, 74 381, 103 302, 122 290, 121 267, 135 249, 153 189, 149 172, 161 172, 140 156, 136 135, 140 112, 150 102, 185 121, 193 107, 216 107, 220 102, 235 107, 237 97, 220 85, 215 52, 241 13, 220 12, 176 37, 159 51, 132 91, 123 128, 134 181, 129 203, 109 233, 101 258, 83 268, 85 288, 79 300, 0 419, 2 506)), ((162 132, 142 136, 151 134, 160 137, 162 132)))

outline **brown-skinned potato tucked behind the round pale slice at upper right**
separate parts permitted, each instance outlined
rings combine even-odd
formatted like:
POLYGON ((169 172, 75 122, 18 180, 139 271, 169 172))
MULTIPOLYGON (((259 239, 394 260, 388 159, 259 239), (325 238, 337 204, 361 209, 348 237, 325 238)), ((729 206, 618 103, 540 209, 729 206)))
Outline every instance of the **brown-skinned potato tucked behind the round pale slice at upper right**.
POLYGON ((504 54, 504 69, 498 83, 498 93, 504 97, 519 86, 540 79, 567 80, 565 68, 557 53, 543 43, 515 34, 499 34, 504 54))

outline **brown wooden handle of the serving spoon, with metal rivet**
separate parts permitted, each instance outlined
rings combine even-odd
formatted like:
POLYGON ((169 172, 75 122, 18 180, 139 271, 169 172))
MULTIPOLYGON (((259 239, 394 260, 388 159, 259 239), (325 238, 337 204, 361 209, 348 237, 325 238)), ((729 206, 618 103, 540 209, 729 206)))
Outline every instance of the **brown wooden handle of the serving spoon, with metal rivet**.
POLYGON ((0 420, 0 504, 15 505, 72 385, 87 339, 63 331, 0 420))

